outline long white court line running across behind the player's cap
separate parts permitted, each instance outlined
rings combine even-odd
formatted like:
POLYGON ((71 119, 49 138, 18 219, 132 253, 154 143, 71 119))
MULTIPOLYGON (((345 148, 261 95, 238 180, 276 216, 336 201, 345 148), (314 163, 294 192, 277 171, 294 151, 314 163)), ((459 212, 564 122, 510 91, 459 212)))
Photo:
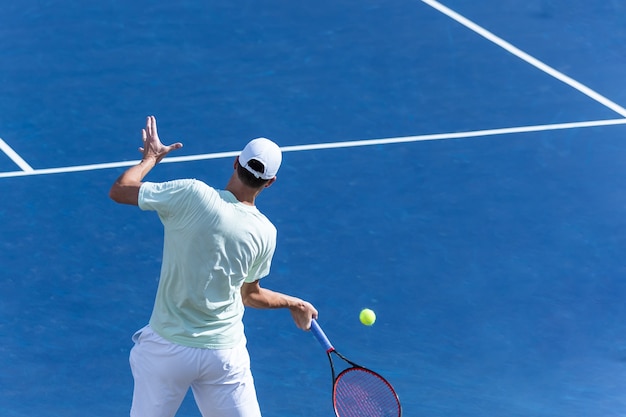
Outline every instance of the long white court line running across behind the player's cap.
MULTIPOLYGON (((446 140, 446 139, 463 139, 463 138, 478 138, 486 136, 498 136, 498 135, 511 135, 515 133, 531 133, 531 132, 544 132, 551 130, 566 130, 566 129, 580 129, 599 126, 615 126, 626 125, 626 119, 609 119, 609 120, 594 120, 588 122, 572 122, 572 123, 556 123, 549 125, 535 125, 535 126, 519 126, 519 127, 507 127, 501 129, 486 129, 486 130, 474 130, 468 132, 453 132, 453 133, 436 133, 431 135, 419 135, 419 136, 403 136, 396 138, 384 138, 384 139, 367 139, 367 140, 355 140, 346 142, 330 142, 330 143, 315 143, 309 145, 294 145, 281 147, 283 152, 301 152, 312 151, 320 149, 337 149, 337 148, 350 148, 361 146, 373 146, 373 145, 389 145, 394 143, 409 143, 420 142, 429 140, 446 140)), ((231 152, 219 152, 200 155, 187 155, 187 156, 174 156, 165 158, 161 161, 164 163, 177 163, 177 162, 190 162, 201 161, 207 159, 220 159, 220 158, 234 158, 239 155, 239 151, 231 152)), ((46 169, 34 169, 31 171, 14 171, 14 172, 0 172, 0 178, 11 177, 24 177, 32 175, 49 175, 49 174, 63 174, 71 172, 84 172, 84 171, 96 171, 103 169, 122 168, 137 164, 139 161, 121 161, 110 162, 104 164, 91 164, 91 165, 75 165, 59 168, 46 168, 46 169)))

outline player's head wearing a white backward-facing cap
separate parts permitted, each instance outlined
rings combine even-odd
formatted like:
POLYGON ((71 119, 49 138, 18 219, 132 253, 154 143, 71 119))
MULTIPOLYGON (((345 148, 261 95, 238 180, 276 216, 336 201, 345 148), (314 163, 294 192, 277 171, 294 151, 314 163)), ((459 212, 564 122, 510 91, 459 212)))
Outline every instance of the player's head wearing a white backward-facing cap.
POLYGON ((239 178, 248 186, 259 188, 273 180, 283 156, 278 145, 266 138, 253 139, 239 154, 239 178))

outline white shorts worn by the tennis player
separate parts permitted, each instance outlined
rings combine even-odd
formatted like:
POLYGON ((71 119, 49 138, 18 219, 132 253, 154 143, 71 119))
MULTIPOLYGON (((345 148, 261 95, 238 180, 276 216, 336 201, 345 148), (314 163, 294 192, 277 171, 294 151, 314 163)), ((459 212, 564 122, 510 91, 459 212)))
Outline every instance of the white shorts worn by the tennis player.
POLYGON ((171 343, 150 326, 133 336, 131 417, 172 417, 191 387, 203 417, 261 417, 245 340, 233 349, 171 343))

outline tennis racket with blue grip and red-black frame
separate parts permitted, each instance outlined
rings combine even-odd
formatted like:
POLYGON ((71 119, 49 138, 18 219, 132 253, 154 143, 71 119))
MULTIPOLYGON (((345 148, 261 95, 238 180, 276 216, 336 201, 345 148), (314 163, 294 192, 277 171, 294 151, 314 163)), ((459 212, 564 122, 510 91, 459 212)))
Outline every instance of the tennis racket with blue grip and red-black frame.
POLYGON ((333 377, 333 406, 337 417, 401 417, 402 406, 396 391, 376 372, 352 362, 337 352, 316 320, 311 332, 326 349, 333 377), (350 365, 335 372, 332 354, 350 365))

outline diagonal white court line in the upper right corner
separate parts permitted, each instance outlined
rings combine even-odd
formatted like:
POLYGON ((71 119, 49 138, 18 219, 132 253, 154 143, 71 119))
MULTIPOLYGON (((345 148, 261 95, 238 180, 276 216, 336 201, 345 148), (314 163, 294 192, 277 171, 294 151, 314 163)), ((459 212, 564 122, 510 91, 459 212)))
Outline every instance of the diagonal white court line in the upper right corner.
POLYGON ((609 100, 608 98, 602 96, 601 94, 598 94, 596 91, 590 89, 589 87, 581 84, 580 82, 574 80, 571 77, 568 77, 567 75, 563 74, 562 72, 559 72, 557 70, 555 70, 554 68, 550 67, 549 65, 546 65, 545 63, 539 61, 538 59, 534 58, 531 55, 528 55, 526 52, 522 51, 521 49, 511 45, 509 42, 505 41, 504 39, 494 35, 493 33, 489 32, 487 29, 477 25, 476 23, 472 22, 471 20, 467 19, 466 17, 458 14, 457 12, 455 12, 454 10, 444 6, 443 4, 435 1, 435 0, 422 0, 422 2, 428 4, 429 6, 431 6, 432 8, 440 11, 441 13, 445 14, 446 16, 450 17, 451 19, 456 20, 458 23, 462 24, 463 26, 467 27, 468 29, 476 32, 477 34, 479 34, 480 36, 484 37, 485 39, 495 43, 496 45, 500 46, 501 48, 505 49, 506 51, 510 52, 511 54, 517 56, 518 58, 526 61, 527 63, 529 63, 530 65, 540 69, 541 71, 545 72, 546 74, 551 75, 552 77, 556 78, 557 80, 560 80, 562 82, 564 82, 565 84, 569 85, 570 87, 575 88, 576 90, 580 91, 581 93, 587 95, 588 97, 594 99, 595 101, 597 101, 598 103, 608 107, 609 109, 613 110, 614 112, 626 117, 626 109, 620 105, 618 105, 617 103, 609 100))

